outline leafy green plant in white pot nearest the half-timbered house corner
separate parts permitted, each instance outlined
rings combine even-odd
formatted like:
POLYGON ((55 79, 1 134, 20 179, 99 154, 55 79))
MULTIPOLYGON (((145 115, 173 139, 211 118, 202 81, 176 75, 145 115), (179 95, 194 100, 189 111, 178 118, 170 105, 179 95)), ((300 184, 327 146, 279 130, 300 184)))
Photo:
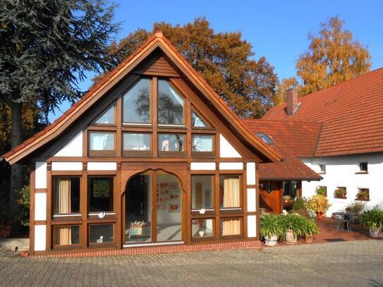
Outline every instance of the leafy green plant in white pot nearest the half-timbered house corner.
POLYGON ((263 214, 260 216, 260 235, 265 238, 265 245, 275 246, 278 239, 284 237, 284 226, 281 216, 276 214, 263 214))

